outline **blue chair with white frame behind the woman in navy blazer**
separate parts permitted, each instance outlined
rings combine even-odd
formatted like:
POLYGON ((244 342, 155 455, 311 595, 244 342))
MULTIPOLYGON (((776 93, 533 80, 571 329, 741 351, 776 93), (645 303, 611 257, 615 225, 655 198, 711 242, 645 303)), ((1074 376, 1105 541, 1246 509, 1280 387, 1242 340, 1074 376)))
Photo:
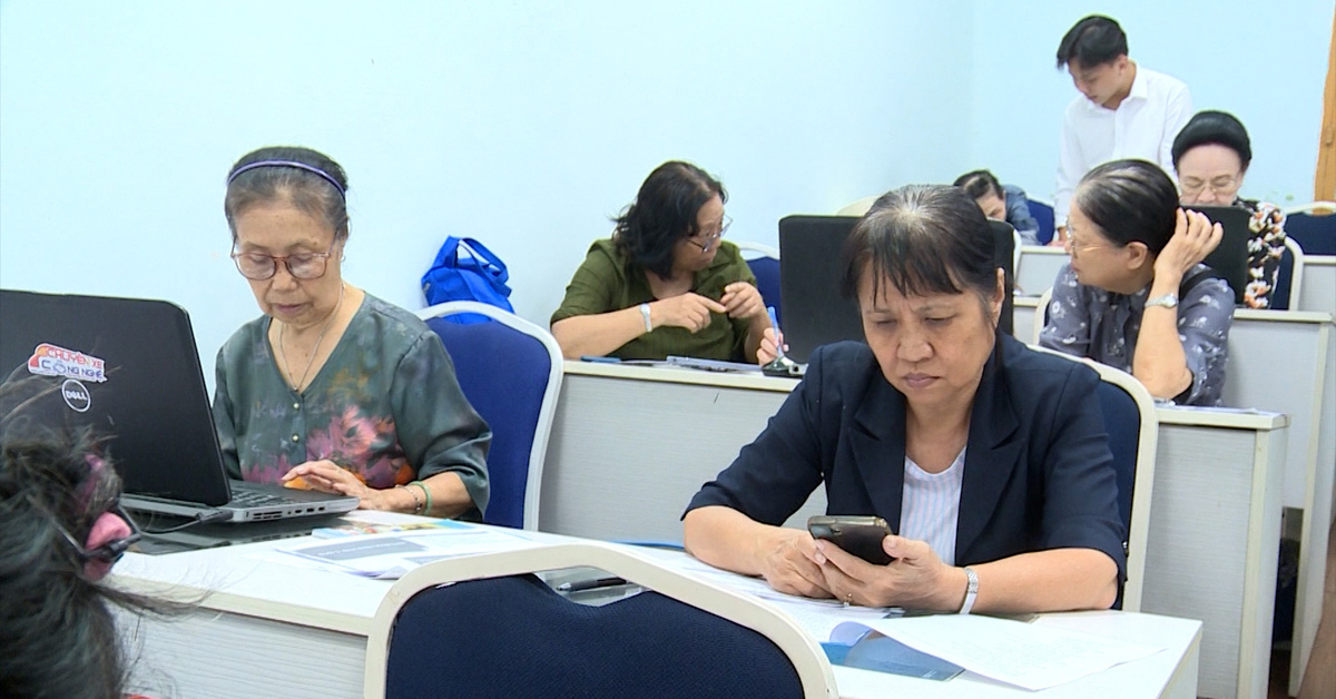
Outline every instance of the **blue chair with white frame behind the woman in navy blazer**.
MULTIPOLYGON (((1035 347, 1039 352, 1050 352, 1035 347)), ((1114 608, 1141 611, 1141 588, 1145 583, 1146 540, 1150 536, 1150 497, 1156 482, 1156 449, 1160 444, 1160 420, 1156 401, 1141 381, 1126 372, 1070 354, 1050 352, 1078 361, 1100 374, 1096 393, 1104 413, 1105 432, 1118 484, 1118 515, 1128 531, 1122 548, 1128 555, 1128 581, 1122 585, 1114 608)))

